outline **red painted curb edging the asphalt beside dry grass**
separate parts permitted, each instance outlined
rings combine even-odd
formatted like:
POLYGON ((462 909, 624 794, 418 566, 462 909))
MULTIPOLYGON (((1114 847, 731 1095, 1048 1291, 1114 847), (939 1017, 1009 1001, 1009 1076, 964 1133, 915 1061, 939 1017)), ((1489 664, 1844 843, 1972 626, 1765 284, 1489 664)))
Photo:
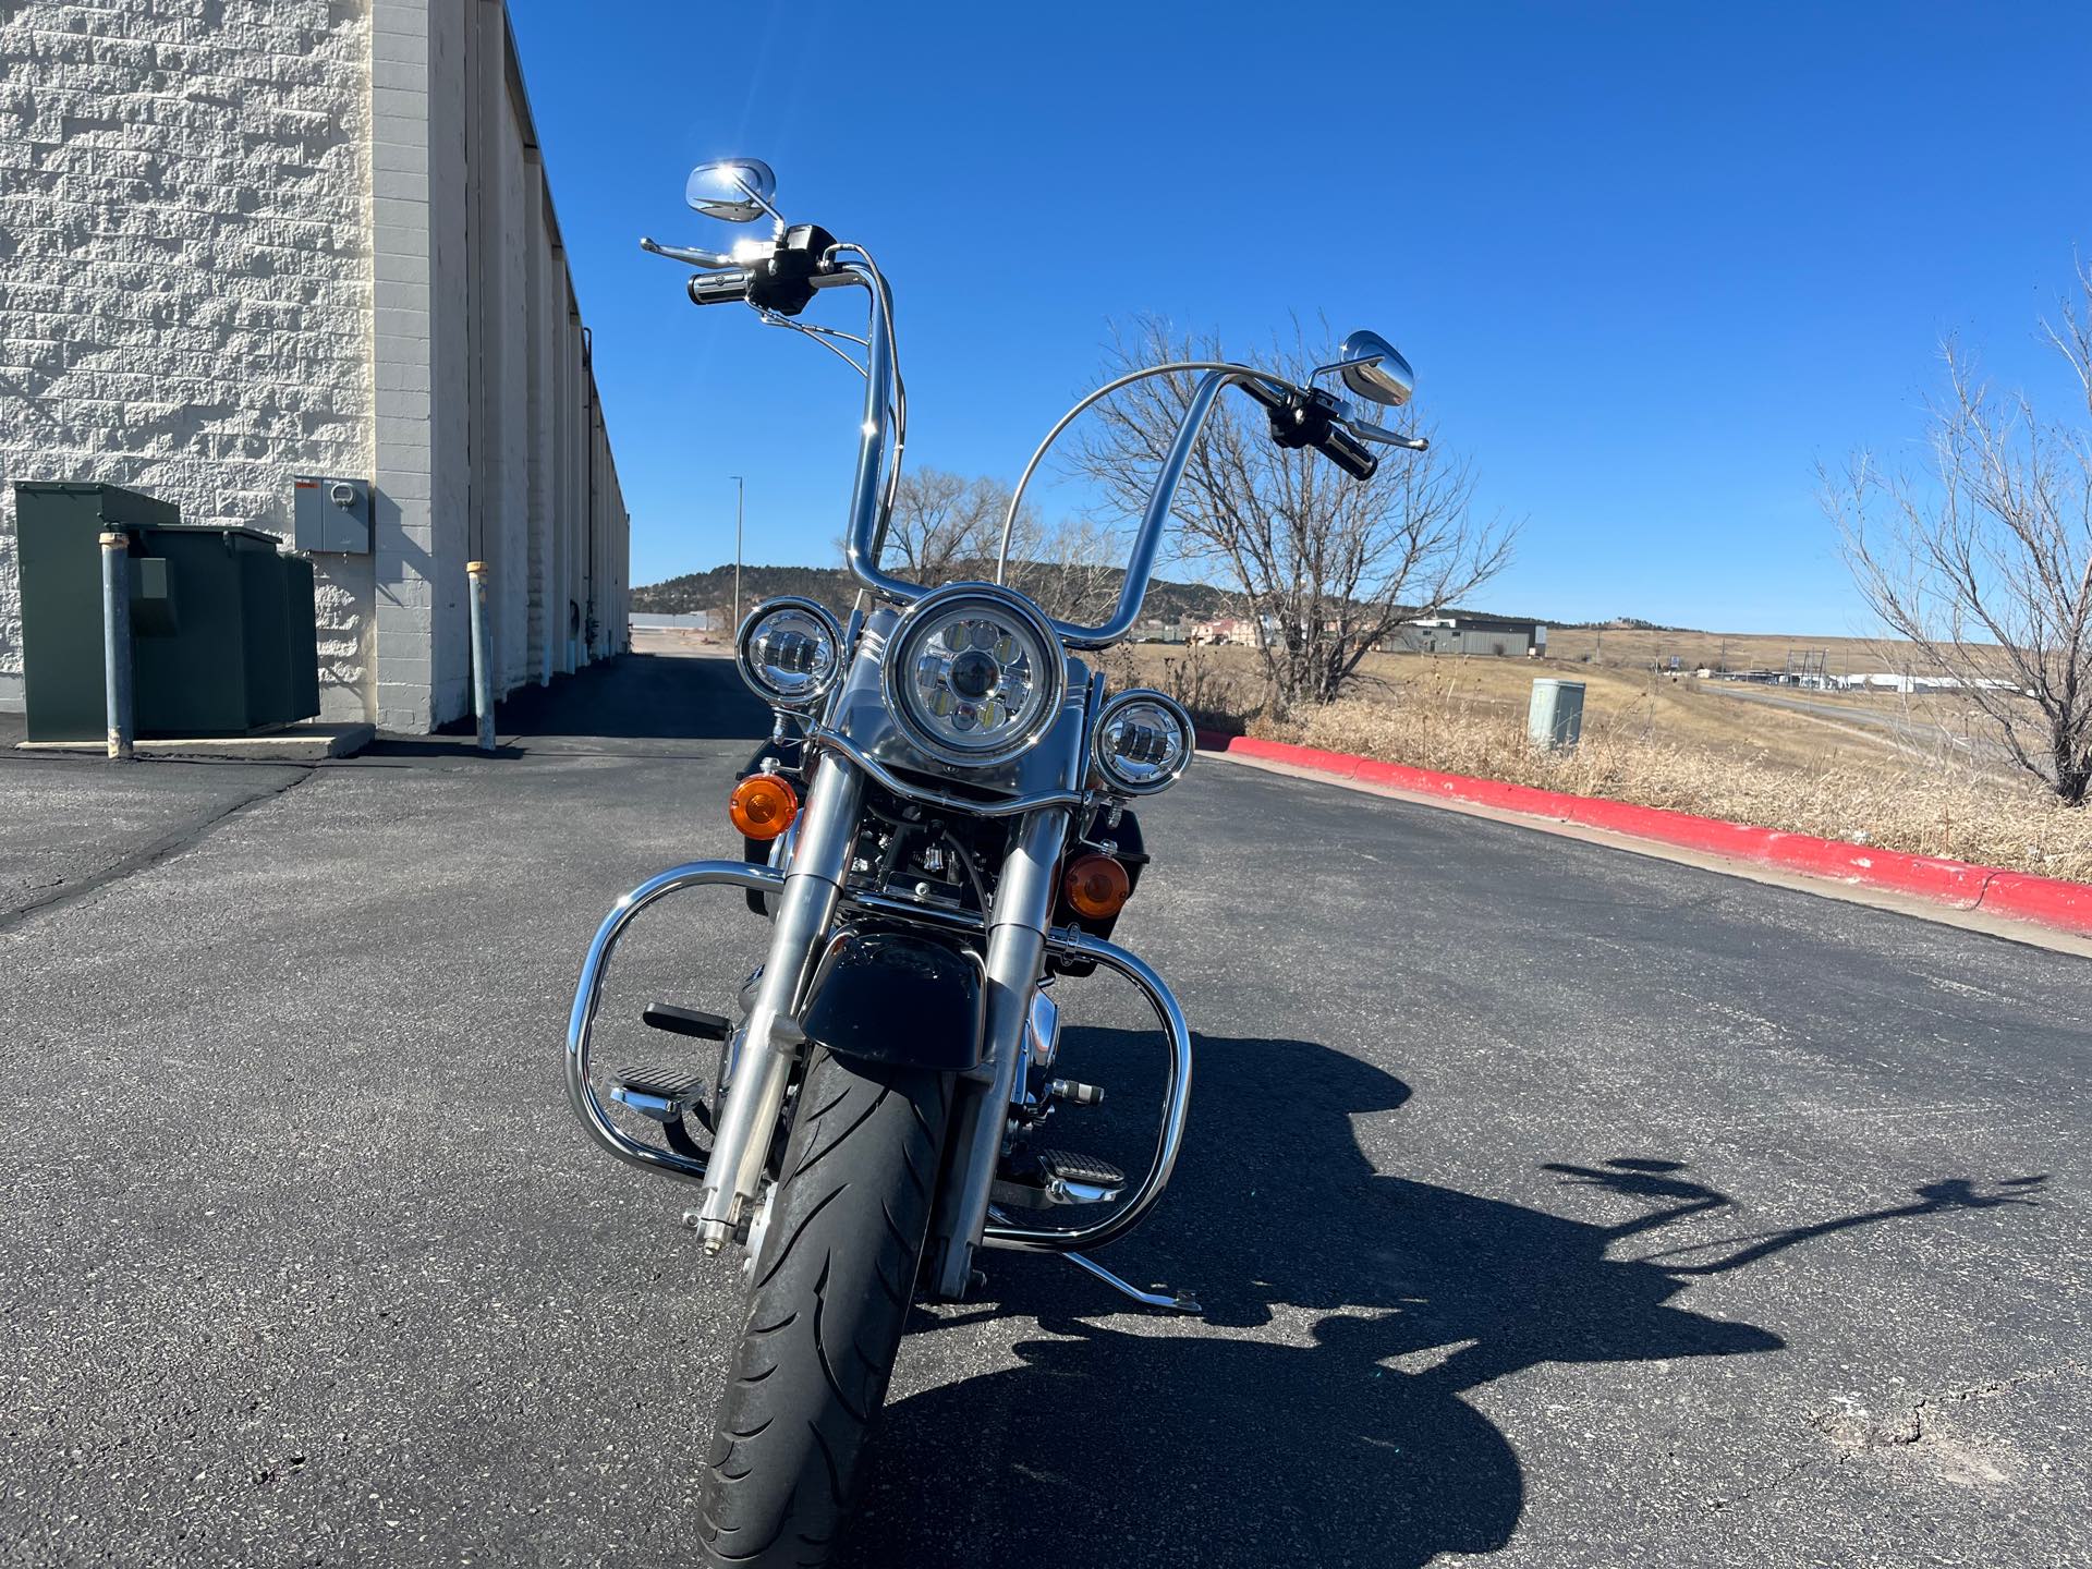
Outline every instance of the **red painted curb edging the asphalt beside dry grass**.
POLYGON ((1529 784, 1506 784, 1496 778, 1435 774, 1427 768, 1381 764, 1370 757, 1351 757, 1349 753, 1320 751, 1318 747, 1295 747, 1284 741, 1234 736, 1226 741, 1222 751, 1291 764, 1293 768, 1312 768, 1318 774, 1349 778, 1362 784, 1385 784, 1416 795, 1466 801, 1469 805, 1490 805, 1502 812, 1523 812, 1533 818, 1575 822, 1586 828, 1607 828, 1609 833, 1623 833, 1634 839, 1655 839, 1657 843, 1703 849, 1732 860, 1782 866, 1791 872, 1824 877, 1837 883, 1864 883, 1866 887, 1891 889, 1895 893, 1914 893, 1920 900, 1952 904, 1960 910, 1981 906, 1987 914, 2092 933, 2092 885, 2065 883, 2056 877, 2006 872, 1998 866, 1971 866, 1969 862, 1946 860, 1943 856, 1906 856, 1897 849, 1872 849, 1868 845, 1849 845, 1841 839, 1816 839, 1814 835, 1784 833, 1780 828, 1753 828, 1745 822, 1697 818, 1690 812, 1669 812, 1630 801, 1600 801, 1592 795, 1536 791, 1529 784))

